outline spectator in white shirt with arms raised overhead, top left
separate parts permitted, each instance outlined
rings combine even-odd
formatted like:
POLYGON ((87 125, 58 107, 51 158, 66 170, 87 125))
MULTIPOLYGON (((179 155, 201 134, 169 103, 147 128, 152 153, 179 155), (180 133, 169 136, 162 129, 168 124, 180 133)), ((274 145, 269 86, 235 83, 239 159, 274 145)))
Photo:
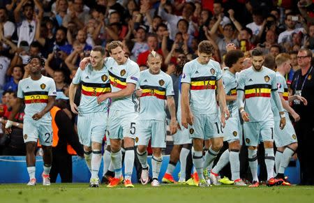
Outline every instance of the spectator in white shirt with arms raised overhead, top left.
MULTIPOLYGON (((38 16, 43 16, 43 7, 41 6, 39 0, 34 0, 36 8, 38 9, 38 16)), ((36 22, 33 20, 34 15, 34 5, 29 3, 28 0, 22 0, 17 4, 17 7, 14 10, 15 22, 17 26, 17 47, 20 46, 22 41, 26 41, 29 45, 33 42, 35 38, 36 31, 36 22), (20 10, 22 9, 24 20, 21 20, 20 10)))

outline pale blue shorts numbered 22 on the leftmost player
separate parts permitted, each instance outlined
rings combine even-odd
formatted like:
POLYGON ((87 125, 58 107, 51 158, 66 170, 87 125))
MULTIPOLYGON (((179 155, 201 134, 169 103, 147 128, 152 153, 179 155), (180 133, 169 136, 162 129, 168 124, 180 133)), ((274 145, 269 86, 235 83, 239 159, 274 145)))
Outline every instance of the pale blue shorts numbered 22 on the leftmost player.
POLYGON ((52 146, 52 124, 24 119, 23 138, 25 143, 37 142, 39 139, 39 144, 52 146))

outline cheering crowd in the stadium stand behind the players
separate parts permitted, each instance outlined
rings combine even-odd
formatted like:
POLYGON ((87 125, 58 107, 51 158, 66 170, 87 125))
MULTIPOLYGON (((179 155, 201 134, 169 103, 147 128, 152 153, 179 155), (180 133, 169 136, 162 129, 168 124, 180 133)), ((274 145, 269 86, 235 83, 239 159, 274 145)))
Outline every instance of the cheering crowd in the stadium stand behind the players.
MULTIPOLYGON (((149 53, 158 52, 164 59, 162 70, 172 75, 173 80, 182 68, 182 61, 197 57, 197 45, 202 40, 214 45, 213 59, 220 63, 222 70, 230 44, 244 52, 246 67, 251 66, 251 50, 255 47, 262 49, 267 67, 274 70, 276 56, 285 52, 291 57, 292 68, 286 75, 290 84, 294 72, 300 68, 299 50, 308 48, 314 52, 314 3, 312 0, 2 0, 0 156, 24 156, 26 152, 23 108, 15 117, 13 132, 6 135, 3 129, 10 106, 16 102, 17 84, 29 77, 28 61, 33 56, 45 59, 42 73, 56 83, 55 105, 63 111, 60 116, 66 116, 62 121, 73 126, 73 130, 61 133, 62 146, 54 151, 63 150, 68 142, 77 155, 83 156, 77 139, 77 116, 71 112, 68 102, 68 87, 81 59, 89 57, 92 47, 106 47, 113 40, 124 43, 126 56, 137 62, 140 70, 147 69, 149 53)), ((107 52, 106 55, 109 56, 107 52)), ((77 105, 79 94, 80 89, 75 98, 77 105)), ((177 103, 177 93, 175 98, 177 103)), ((311 120, 314 114, 311 93, 307 100, 306 110, 312 115, 304 116, 311 120)), ((314 156, 307 142, 314 140, 306 136, 314 135, 313 131, 309 133, 298 137, 303 141, 298 150, 304 159, 301 170, 307 177, 301 181, 313 184, 314 156)))

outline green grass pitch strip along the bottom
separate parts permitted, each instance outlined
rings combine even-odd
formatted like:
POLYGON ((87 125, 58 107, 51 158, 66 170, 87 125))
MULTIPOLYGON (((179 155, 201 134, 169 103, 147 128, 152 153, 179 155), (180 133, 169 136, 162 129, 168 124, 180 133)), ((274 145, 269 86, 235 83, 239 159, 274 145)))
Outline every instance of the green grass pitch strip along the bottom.
POLYGON ((165 203, 165 202, 314 202, 314 186, 275 186, 268 188, 212 186, 150 185, 135 184, 135 188, 89 188, 88 183, 54 183, 51 186, 38 184, 29 187, 25 184, 1 184, 0 202, 48 203, 48 202, 104 202, 104 203, 165 203))

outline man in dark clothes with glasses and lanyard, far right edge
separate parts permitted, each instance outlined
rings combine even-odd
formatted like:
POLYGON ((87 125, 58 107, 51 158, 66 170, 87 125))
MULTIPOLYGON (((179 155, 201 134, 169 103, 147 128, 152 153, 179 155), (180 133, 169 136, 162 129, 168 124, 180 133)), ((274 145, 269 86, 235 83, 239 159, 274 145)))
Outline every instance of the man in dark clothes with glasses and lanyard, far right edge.
POLYGON ((314 119, 314 69, 311 65, 313 53, 308 49, 301 49, 297 54, 300 69, 294 73, 291 84, 292 94, 303 96, 308 105, 294 100, 293 109, 301 117, 295 123, 297 133, 297 154, 300 160, 301 185, 314 184, 314 161, 312 143, 314 142, 313 119, 314 119))

